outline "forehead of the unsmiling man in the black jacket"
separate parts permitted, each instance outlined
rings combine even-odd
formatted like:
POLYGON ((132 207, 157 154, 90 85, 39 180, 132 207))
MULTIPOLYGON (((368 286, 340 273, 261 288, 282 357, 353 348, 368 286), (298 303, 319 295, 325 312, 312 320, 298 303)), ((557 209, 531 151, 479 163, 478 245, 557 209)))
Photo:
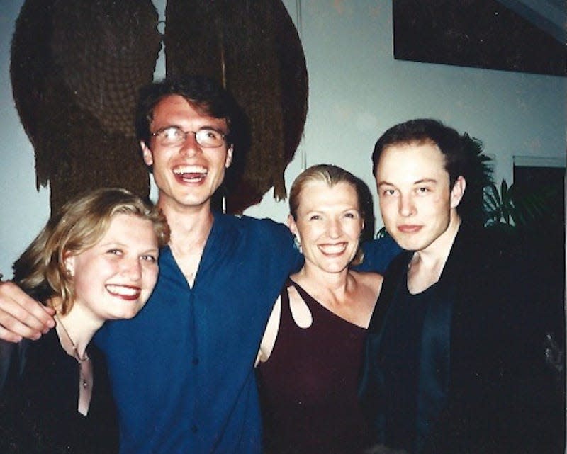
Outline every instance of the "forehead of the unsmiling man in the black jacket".
POLYGON ((393 144, 386 147, 378 161, 376 181, 419 181, 424 178, 449 178, 445 158, 431 142, 393 144))

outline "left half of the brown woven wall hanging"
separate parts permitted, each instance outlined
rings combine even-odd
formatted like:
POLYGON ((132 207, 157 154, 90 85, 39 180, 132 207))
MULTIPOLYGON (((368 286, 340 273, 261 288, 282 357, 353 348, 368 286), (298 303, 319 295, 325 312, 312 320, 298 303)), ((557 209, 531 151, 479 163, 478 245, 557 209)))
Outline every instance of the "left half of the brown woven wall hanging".
POLYGON ((52 210, 103 186, 149 193, 133 118, 137 89, 153 79, 157 20, 149 0, 23 4, 11 48, 13 97, 52 210))

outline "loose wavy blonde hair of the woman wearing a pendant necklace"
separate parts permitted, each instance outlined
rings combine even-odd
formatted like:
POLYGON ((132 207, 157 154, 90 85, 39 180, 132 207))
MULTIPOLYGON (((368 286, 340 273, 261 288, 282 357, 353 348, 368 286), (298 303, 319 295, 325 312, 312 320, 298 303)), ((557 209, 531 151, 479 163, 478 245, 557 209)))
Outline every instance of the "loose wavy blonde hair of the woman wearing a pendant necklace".
POLYGON ((59 296, 69 312, 74 287, 65 258, 90 249, 106 234, 112 217, 133 215, 152 222, 159 247, 169 241, 169 226, 152 203, 121 188, 102 188, 67 202, 47 221, 40 234, 14 263, 14 280, 33 297, 46 302, 59 296))

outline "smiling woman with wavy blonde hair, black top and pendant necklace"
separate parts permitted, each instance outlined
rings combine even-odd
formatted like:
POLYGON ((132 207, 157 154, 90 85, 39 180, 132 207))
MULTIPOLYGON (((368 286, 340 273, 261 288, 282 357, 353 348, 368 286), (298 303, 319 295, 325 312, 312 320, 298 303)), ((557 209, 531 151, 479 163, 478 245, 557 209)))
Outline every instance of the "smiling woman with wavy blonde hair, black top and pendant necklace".
POLYGON ((156 208, 106 188, 64 205, 14 264, 14 280, 52 307, 56 329, 13 354, 0 408, 2 453, 118 450, 106 365, 90 344, 142 309, 169 229, 156 208))

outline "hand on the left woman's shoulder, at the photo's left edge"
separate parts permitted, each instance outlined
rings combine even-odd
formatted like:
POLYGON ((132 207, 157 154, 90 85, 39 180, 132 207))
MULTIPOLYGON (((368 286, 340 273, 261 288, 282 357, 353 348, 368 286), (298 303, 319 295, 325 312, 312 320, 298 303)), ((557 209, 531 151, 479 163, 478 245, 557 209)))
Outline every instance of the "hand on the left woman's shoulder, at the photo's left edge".
POLYGON ((54 311, 8 281, 0 283, 0 339, 17 342, 22 337, 39 339, 55 326, 54 311))

